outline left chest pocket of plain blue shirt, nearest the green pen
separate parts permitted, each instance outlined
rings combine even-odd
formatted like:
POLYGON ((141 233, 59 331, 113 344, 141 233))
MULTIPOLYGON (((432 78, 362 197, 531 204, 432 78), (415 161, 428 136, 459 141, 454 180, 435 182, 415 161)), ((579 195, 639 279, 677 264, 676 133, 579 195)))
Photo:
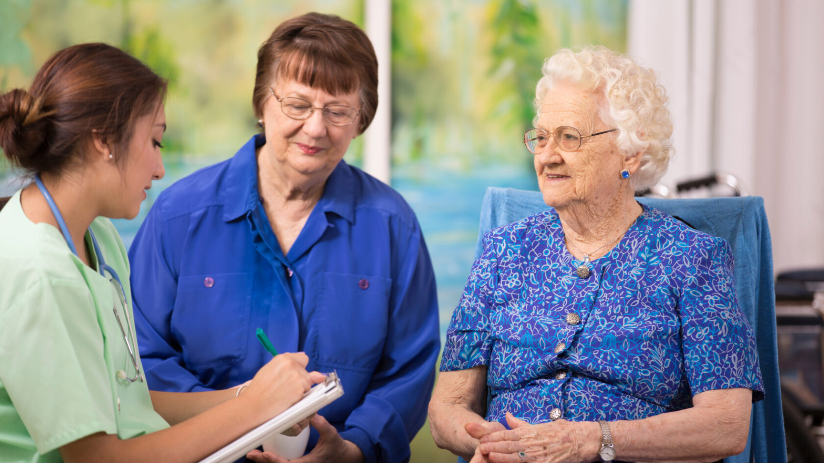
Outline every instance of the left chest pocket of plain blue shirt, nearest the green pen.
POLYGON ((242 362, 250 339, 252 274, 180 277, 171 330, 186 367, 242 362))

